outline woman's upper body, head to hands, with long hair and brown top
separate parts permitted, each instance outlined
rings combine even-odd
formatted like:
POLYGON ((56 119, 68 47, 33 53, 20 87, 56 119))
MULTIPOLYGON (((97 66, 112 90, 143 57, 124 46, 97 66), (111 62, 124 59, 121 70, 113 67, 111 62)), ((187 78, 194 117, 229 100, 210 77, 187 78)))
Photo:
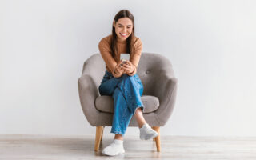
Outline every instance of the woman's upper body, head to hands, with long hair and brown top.
POLYGON ((142 54, 142 41, 134 35, 134 16, 129 10, 121 10, 116 14, 112 26, 112 34, 102 38, 98 44, 102 58, 106 62, 106 70, 119 78, 122 74, 134 76, 142 54), (127 64, 121 65, 120 53, 130 54, 127 64))

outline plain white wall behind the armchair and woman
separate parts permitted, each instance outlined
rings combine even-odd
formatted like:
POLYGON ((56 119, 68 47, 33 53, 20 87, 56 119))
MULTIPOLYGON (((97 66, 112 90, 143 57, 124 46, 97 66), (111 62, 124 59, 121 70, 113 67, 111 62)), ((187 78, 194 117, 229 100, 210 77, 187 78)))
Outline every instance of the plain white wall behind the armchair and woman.
POLYGON ((166 56, 178 77, 162 135, 256 136, 255 8, 253 0, 0 1, 0 134, 94 134, 77 80, 128 9, 143 51, 166 56))

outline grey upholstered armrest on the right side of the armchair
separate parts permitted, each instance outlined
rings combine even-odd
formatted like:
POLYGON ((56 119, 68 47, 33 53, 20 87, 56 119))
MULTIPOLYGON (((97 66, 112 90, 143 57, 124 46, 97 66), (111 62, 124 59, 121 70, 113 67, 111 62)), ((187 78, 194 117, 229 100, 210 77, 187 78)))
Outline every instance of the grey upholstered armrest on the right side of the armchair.
POLYGON ((157 114, 158 122, 163 126, 174 109, 178 78, 174 77, 172 70, 163 70, 159 75, 159 80, 154 87, 154 94, 159 98, 160 106, 155 114, 157 114))

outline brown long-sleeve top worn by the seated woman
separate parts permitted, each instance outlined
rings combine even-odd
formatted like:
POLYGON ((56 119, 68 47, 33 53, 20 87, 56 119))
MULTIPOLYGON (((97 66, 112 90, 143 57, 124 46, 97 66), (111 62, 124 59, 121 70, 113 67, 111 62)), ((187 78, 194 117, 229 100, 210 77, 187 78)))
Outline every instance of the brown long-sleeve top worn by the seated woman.
MULTIPOLYGON (((115 74, 114 73, 114 67, 117 65, 118 61, 120 61, 120 54, 121 53, 126 53, 126 47, 127 44, 126 42, 119 42, 117 41, 117 49, 118 49, 118 54, 116 58, 114 59, 111 55, 111 36, 112 34, 106 36, 105 38, 102 38, 102 40, 98 43, 98 49, 100 53, 102 54, 102 58, 106 63, 106 70, 113 74, 115 78, 121 77, 122 74, 115 74)), ((137 72, 137 66, 139 59, 141 58, 142 54, 142 41, 140 38, 135 37, 134 39, 134 51, 133 53, 130 53, 130 62, 134 66, 134 72, 132 73, 126 73, 130 76, 133 76, 137 72)))

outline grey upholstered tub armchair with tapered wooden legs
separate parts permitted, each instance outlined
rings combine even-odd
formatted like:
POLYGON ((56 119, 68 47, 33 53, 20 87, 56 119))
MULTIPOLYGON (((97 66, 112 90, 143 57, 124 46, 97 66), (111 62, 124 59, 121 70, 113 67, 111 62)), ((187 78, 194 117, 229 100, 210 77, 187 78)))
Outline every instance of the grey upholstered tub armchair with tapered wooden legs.
MULTIPOLYGON (((82 111, 91 126, 96 126, 94 150, 98 151, 104 126, 112 126, 114 100, 111 96, 100 96, 100 85, 106 66, 101 54, 93 54, 84 62, 82 76, 78 78, 79 98, 82 111)), ((160 151, 160 126, 164 126, 174 109, 178 79, 170 61, 161 54, 142 53, 137 74, 144 86, 142 102, 144 118, 159 136, 154 138, 160 151)), ((136 119, 129 126, 138 126, 136 119)))

